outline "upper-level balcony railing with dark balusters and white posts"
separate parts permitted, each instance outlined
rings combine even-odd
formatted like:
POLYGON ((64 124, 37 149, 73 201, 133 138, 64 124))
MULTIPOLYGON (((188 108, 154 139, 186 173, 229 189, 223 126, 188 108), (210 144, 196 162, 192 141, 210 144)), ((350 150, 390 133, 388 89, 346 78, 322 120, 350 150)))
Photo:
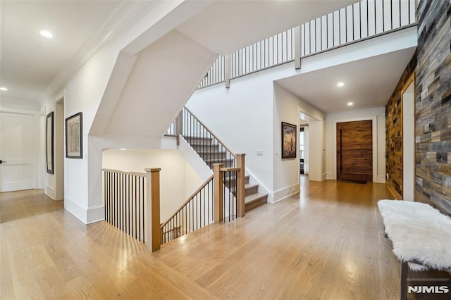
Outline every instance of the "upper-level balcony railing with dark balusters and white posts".
POLYGON ((219 56, 197 89, 416 23, 415 0, 362 0, 219 56))

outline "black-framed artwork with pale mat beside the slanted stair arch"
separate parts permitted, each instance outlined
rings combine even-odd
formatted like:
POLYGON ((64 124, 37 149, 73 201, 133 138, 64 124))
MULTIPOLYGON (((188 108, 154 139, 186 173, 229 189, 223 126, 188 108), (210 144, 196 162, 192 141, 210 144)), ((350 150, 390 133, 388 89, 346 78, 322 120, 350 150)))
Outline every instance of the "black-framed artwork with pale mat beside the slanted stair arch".
POLYGON ((66 157, 83 158, 82 113, 66 119, 66 157))

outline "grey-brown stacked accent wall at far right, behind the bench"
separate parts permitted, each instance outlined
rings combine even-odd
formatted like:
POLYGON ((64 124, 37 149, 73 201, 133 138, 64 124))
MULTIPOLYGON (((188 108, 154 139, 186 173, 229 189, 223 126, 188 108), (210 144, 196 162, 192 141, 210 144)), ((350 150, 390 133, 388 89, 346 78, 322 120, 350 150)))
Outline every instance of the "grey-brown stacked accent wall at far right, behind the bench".
POLYGON ((415 197, 451 213, 450 15, 450 1, 418 1, 415 197))

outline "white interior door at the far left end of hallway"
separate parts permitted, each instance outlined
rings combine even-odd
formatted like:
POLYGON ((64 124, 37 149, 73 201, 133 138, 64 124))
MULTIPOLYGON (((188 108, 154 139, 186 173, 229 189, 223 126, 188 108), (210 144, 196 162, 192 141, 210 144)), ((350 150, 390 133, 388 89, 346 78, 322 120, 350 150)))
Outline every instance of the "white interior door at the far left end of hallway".
POLYGON ((35 115, 0 112, 0 192, 34 189, 35 115))

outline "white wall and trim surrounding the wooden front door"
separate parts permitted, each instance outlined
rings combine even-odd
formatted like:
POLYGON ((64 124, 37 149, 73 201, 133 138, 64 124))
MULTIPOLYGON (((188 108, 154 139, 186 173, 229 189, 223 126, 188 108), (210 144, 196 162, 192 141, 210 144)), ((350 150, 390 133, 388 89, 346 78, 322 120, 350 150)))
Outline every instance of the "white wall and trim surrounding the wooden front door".
POLYGON ((385 107, 340 111, 326 115, 326 172, 328 179, 337 179, 336 123, 373 120, 373 182, 385 182, 385 107), (335 129, 334 129, 335 127, 335 129), (335 146, 334 146, 335 145, 335 146))

